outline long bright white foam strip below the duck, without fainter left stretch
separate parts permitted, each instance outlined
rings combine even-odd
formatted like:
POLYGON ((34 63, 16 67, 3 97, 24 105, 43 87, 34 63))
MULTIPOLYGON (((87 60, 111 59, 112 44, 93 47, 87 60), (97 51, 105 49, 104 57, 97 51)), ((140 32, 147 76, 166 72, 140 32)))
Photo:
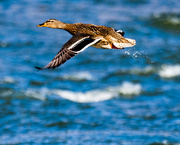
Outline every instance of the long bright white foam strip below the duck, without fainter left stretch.
POLYGON ((91 90, 87 92, 72 92, 65 90, 53 90, 52 92, 65 99, 79 102, 79 103, 91 103, 100 102, 112 99, 121 95, 138 95, 142 91, 140 84, 133 84, 131 82, 123 82, 122 85, 116 87, 108 87, 102 90, 91 90))

